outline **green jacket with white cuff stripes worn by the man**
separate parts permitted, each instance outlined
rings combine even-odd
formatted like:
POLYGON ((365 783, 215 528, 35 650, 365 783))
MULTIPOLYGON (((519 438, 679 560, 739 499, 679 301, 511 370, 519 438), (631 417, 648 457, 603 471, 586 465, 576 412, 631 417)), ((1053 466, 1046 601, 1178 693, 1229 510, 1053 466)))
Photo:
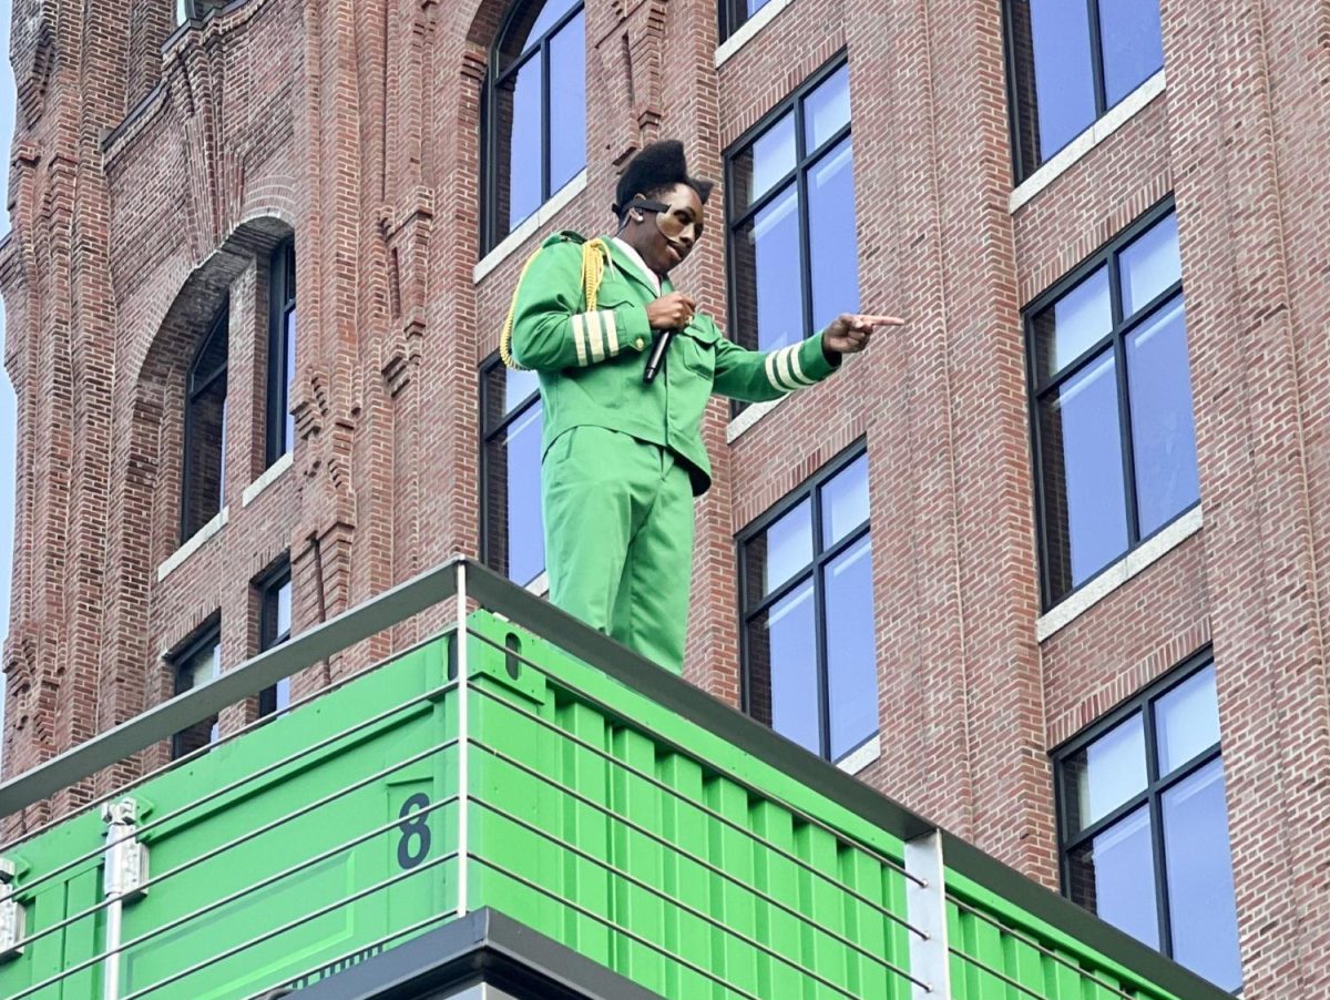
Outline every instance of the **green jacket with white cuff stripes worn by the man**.
MULTIPOLYGON (((646 322, 646 305, 657 298, 656 289, 606 238, 610 263, 596 309, 587 311, 584 242, 576 233, 549 237, 528 265, 513 302, 512 359, 535 368, 540 379, 541 455, 572 427, 608 427, 682 457, 693 493, 700 496, 712 484, 701 423, 713 392, 763 402, 835 371, 822 354, 822 334, 775 351, 749 351, 726 340, 710 316, 697 312, 669 346, 656 380, 645 384, 642 368, 657 332, 646 322)), ((669 282, 662 282, 661 294, 669 291, 669 282)))

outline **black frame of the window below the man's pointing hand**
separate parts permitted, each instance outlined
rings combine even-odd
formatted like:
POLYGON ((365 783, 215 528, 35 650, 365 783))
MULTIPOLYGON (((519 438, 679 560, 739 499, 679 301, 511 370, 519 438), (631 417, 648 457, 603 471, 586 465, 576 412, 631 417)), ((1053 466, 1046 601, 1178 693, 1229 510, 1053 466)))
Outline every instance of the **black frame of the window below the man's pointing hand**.
MULTIPOLYGON (((750 622, 762 614, 765 610, 778 604, 790 593, 793 593, 799 585, 813 581, 813 601, 814 601, 814 649, 817 650, 818 662, 817 669, 817 685, 818 685, 818 755, 823 761, 837 763, 847 757, 855 754, 862 746, 871 742, 874 737, 879 737, 882 733, 880 725, 880 707, 882 707, 882 690, 878 686, 878 709, 879 709, 879 725, 867 737, 861 739, 858 743, 846 750, 835 761, 831 759, 831 705, 830 705, 830 672, 827 666, 827 622, 826 622, 826 586, 822 582, 825 569, 829 564, 834 562, 847 551, 859 544, 864 537, 870 539, 870 549, 872 547, 872 504, 868 504, 868 516, 866 520, 854 525, 850 531, 845 533, 842 539, 838 539, 833 545, 826 547, 822 540, 822 487, 835 479, 837 475, 847 469, 861 457, 866 457, 868 453, 867 439, 859 438, 847 448, 842 449, 835 457, 827 461, 822 468, 814 472, 809 479, 802 481, 795 489, 793 489, 786 496, 781 497, 770 509, 765 511, 759 517, 751 521, 749 525, 741 531, 734 539, 735 548, 735 561, 738 564, 738 624, 739 624, 739 707, 745 715, 753 717, 753 670, 751 670, 751 650, 747 640, 750 622), (751 543, 759 535, 762 535, 767 528, 770 528, 775 521, 781 520, 785 515, 793 511, 795 507, 802 504, 805 500, 810 500, 809 517, 811 521, 813 531, 813 560, 805 564, 794 576, 783 581, 771 593, 763 596, 751 608, 747 606, 747 593, 749 593, 749 580, 747 580, 747 560, 745 559, 745 545, 751 543)), ((876 624, 870 622, 870 628, 875 632, 876 624)), ((874 654, 874 665, 876 665, 876 654, 874 654)), ((775 731, 774 727, 771 731, 775 731)))

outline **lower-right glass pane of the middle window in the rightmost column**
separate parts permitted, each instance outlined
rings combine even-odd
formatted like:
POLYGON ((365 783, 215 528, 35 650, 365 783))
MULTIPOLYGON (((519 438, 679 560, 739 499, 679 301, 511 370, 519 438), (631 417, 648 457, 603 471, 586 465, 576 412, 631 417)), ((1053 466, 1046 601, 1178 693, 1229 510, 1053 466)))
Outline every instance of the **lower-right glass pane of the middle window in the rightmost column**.
POLYGON ((1201 495, 1181 295, 1127 338, 1127 374, 1136 512, 1144 539, 1201 495))

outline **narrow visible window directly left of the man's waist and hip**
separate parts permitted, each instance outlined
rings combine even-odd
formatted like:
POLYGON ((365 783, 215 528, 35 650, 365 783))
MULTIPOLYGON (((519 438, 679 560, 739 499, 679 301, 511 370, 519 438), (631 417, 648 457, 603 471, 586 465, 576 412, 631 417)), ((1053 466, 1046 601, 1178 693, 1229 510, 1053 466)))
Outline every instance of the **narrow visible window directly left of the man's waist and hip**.
POLYGON ((497 359, 480 376, 480 548, 485 565, 523 586, 545 568, 537 388, 536 372, 505 368, 497 359))

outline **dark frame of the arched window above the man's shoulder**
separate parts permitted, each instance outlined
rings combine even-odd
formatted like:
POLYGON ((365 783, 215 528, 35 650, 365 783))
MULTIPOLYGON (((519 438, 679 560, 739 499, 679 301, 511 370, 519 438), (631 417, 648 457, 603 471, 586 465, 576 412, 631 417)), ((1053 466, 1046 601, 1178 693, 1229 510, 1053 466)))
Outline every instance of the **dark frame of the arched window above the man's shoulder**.
MULTIPOLYGON (((551 189, 551 142, 549 142, 549 43, 553 40, 559 32, 561 32, 569 21, 581 15, 587 9, 585 0, 576 0, 576 3, 569 7, 559 20, 555 21, 545 32, 543 32, 537 39, 527 39, 523 43, 521 52, 513 59, 512 64, 505 69, 499 69, 500 51, 503 44, 508 37, 508 33, 513 29, 513 24, 519 20, 521 13, 532 3, 539 3, 541 8, 549 3, 557 3, 557 0, 513 0, 508 5, 508 11, 504 13, 503 21, 500 23, 499 31, 495 33, 495 40, 489 45, 489 62, 485 66, 485 76, 483 82, 483 90, 480 97, 480 254, 481 257, 491 250, 493 250, 499 243, 501 243, 509 234, 517 230, 521 225, 519 221, 512 229, 509 229, 503 235, 499 235, 499 130, 495 128, 499 122, 499 89, 500 86, 513 74, 521 70, 521 68, 531 60, 531 57, 539 51, 540 53, 540 202, 544 205, 555 194, 551 189)), ((539 17, 539 11, 536 13, 539 17)), ((583 40, 585 47, 585 39, 583 40)), ((585 81, 583 81, 583 101, 587 100, 585 81)), ((584 137, 585 144, 585 137, 584 137)), ((539 207, 537 205, 537 207, 539 207)))

